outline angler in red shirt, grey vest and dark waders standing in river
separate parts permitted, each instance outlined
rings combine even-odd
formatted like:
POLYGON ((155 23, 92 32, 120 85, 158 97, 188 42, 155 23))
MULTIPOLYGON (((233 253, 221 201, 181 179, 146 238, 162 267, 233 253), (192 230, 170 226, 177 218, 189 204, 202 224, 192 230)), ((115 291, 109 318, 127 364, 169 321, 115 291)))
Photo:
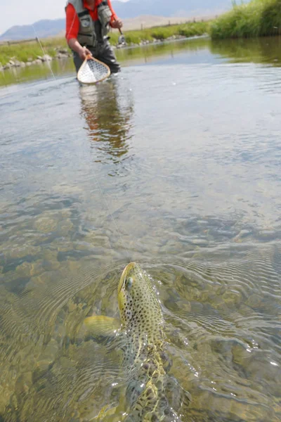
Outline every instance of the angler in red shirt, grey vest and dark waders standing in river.
POLYGON ((108 41, 109 27, 120 29, 110 0, 68 0, 66 13, 66 39, 72 49, 78 72, 87 54, 105 63, 110 72, 117 73, 120 65, 108 41))

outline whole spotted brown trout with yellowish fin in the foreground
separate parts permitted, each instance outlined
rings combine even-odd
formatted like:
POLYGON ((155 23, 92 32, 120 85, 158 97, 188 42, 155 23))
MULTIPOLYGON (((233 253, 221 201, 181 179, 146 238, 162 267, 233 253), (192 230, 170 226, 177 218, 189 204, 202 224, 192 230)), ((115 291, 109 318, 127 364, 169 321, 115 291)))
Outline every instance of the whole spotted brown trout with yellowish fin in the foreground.
MULTIPOLYGON (((164 353, 164 319, 150 277, 131 262, 124 269, 118 286, 121 326, 107 316, 91 316, 85 320, 89 331, 102 333, 111 326, 124 335, 123 366, 129 374, 126 387, 126 422, 181 422, 169 404, 169 364, 164 353)), ((112 415, 114 411, 110 411, 112 415)), ((100 412, 98 420, 115 421, 100 412)), ((120 421, 118 417, 116 421, 120 421)))

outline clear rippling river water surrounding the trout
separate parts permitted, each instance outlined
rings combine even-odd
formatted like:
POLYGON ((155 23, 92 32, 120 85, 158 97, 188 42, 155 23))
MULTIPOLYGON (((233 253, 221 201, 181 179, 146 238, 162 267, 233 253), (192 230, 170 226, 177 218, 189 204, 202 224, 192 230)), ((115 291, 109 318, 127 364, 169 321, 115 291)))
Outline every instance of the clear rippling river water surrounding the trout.
POLYGON ((80 328, 117 316, 130 260, 159 290, 183 421, 280 421, 280 69, 204 42, 98 87, 1 89, 3 421, 118 402, 119 353, 80 328))

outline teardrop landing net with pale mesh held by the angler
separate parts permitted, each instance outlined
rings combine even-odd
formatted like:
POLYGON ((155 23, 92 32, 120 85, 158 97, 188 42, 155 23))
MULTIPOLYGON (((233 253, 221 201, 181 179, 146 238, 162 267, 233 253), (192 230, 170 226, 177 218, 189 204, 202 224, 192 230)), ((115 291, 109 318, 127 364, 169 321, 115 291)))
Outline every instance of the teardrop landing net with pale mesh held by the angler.
POLYGON ((82 84, 96 84, 108 76, 110 76, 110 69, 100 61, 90 58, 81 65, 77 79, 82 84))

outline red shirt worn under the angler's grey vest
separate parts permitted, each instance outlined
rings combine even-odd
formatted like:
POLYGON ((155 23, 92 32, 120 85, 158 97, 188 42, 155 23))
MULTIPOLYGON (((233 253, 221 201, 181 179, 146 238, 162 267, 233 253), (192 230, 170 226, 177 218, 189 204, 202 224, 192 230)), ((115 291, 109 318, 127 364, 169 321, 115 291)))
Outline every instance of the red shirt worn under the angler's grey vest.
MULTIPOLYGON (((89 10, 89 13, 91 15, 91 18, 93 20, 98 20, 98 8, 97 6, 102 3, 103 0, 96 0, 95 1, 95 7, 93 11, 89 9, 88 4, 86 4, 86 1, 83 0, 84 8, 87 8, 89 10)), ((117 19, 117 15, 115 15, 115 11, 112 9, 111 1, 107 0, 107 4, 110 7, 110 10, 112 11, 112 17, 111 21, 117 19)), ((72 4, 67 4, 66 8, 66 32, 65 32, 65 38, 67 41, 69 41, 72 38, 77 38, 79 32, 79 18, 77 16, 77 13, 74 9, 74 6, 72 4)))

